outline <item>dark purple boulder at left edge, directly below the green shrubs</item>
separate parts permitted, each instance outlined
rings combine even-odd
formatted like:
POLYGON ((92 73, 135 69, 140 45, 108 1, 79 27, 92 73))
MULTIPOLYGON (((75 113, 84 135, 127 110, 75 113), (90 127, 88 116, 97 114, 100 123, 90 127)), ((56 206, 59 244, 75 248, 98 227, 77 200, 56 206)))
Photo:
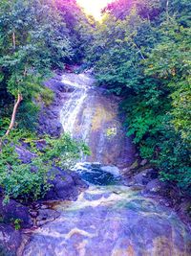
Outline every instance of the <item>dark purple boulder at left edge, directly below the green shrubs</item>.
POLYGON ((16 219, 21 220, 22 228, 32 227, 32 219, 27 206, 20 204, 15 200, 10 200, 6 205, 3 205, 3 198, 0 198, 0 216, 6 223, 13 223, 16 219))

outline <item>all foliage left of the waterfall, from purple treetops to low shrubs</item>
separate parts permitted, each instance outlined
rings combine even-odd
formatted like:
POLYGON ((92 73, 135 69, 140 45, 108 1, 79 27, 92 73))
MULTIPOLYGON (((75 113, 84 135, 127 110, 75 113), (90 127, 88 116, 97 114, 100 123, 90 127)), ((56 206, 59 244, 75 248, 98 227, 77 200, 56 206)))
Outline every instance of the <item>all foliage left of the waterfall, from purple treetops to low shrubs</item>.
POLYGON ((53 99, 43 81, 81 61, 89 27, 74 0, 0 1, 0 187, 6 200, 42 196, 52 167, 69 168, 81 151, 88 152, 68 135, 39 138, 32 130, 39 105, 53 99), (46 144, 41 151, 40 140, 46 144), (31 161, 19 159, 19 145, 31 161))

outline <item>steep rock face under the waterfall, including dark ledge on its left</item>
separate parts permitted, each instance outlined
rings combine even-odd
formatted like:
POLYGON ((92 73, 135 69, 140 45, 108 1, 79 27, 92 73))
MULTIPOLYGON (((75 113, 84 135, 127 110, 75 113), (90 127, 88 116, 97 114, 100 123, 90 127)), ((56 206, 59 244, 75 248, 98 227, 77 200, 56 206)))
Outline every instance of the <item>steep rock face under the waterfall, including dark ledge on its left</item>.
POLYGON ((86 158, 82 156, 82 161, 130 166, 135 160, 135 147, 122 126, 120 99, 106 95, 94 82, 89 75, 71 73, 47 81, 54 100, 52 105, 42 106, 39 132, 52 136, 68 132, 84 141, 92 153, 86 158))

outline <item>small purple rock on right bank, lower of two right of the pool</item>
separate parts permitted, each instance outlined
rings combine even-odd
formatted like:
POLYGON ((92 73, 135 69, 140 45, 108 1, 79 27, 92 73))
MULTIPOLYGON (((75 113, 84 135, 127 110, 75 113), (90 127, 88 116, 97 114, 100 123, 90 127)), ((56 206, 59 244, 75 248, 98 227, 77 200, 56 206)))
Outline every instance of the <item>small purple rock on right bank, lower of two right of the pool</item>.
POLYGON ((155 178, 147 183, 143 193, 144 194, 152 194, 157 195, 160 194, 160 192, 165 189, 166 184, 159 180, 159 178, 155 178))

